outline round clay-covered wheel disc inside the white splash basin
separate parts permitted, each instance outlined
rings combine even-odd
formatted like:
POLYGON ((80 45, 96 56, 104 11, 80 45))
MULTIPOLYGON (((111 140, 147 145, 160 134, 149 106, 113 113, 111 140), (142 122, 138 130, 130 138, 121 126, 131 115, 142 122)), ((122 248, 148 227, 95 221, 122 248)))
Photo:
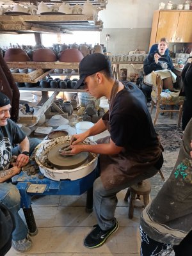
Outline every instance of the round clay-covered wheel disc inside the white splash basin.
POLYGON ((88 152, 81 152, 74 156, 62 156, 59 150, 66 147, 68 143, 62 145, 56 145, 53 147, 48 154, 49 162, 60 170, 74 169, 83 164, 88 159, 88 152))

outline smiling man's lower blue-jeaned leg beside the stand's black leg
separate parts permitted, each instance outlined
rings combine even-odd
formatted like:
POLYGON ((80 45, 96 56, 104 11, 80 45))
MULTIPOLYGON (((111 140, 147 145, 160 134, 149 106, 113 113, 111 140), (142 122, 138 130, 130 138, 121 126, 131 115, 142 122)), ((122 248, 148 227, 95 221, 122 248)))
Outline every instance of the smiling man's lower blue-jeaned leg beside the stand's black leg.
POLYGON ((20 209, 20 193, 17 187, 11 183, 0 183, 0 202, 12 212, 15 219, 13 240, 21 240, 28 236, 28 228, 18 213, 20 209))

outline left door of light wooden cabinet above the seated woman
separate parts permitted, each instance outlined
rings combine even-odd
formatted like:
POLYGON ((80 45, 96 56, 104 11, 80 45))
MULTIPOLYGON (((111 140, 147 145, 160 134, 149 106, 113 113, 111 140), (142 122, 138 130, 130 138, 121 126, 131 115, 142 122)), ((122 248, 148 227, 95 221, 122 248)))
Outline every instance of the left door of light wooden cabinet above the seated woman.
POLYGON ((166 37, 168 42, 175 42, 179 13, 180 12, 173 11, 159 13, 156 42, 158 42, 162 37, 166 37))

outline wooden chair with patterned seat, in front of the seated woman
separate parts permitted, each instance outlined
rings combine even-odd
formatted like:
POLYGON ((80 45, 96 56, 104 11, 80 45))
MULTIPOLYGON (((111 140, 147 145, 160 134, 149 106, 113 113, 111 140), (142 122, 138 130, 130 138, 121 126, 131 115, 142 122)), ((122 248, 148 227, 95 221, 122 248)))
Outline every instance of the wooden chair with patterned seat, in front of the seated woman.
POLYGON ((177 127, 180 126, 180 120, 182 116, 182 106, 184 103, 184 97, 179 96, 179 90, 175 90, 174 92, 171 93, 166 93, 163 95, 162 90, 163 90, 163 81, 161 79, 161 76, 159 76, 156 72, 152 72, 152 105, 150 109, 150 113, 152 113, 154 106, 156 105, 156 116, 154 119, 154 125, 156 124, 157 118, 159 116, 159 113, 173 113, 177 112, 179 113, 179 118, 177 122, 177 127), (160 108, 160 106, 165 106, 165 108, 160 108), (173 109, 174 105, 178 105, 179 109, 173 109), (166 109, 166 106, 171 106, 171 109, 166 109))

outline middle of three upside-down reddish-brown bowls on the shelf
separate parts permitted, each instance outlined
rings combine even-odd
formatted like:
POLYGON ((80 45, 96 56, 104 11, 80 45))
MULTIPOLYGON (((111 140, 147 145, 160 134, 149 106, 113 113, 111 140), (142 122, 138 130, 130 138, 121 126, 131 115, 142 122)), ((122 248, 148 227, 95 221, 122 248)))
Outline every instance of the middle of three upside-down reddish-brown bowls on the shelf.
POLYGON ((54 62, 56 55, 50 49, 37 49, 33 52, 33 61, 36 62, 54 62))

